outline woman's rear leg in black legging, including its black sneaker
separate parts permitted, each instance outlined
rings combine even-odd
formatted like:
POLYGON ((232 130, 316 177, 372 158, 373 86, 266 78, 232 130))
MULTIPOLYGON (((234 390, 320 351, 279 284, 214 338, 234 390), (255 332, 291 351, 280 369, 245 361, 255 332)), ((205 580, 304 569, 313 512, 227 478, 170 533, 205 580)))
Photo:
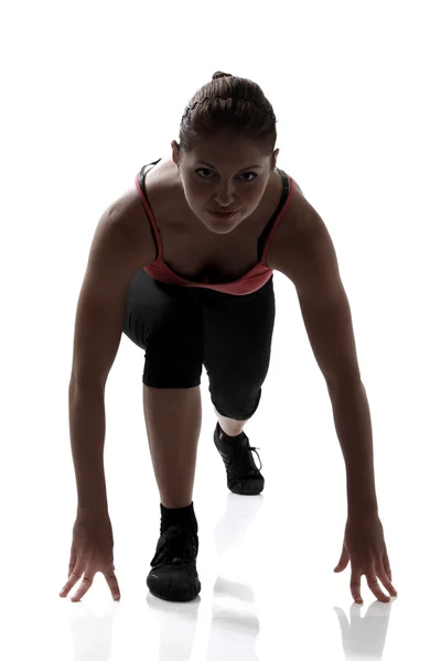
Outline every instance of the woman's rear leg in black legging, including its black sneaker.
POLYGON ((276 315, 272 279, 248 296, 204 293, 201 299, 204 365, 219 420, 214 443, 225 464, 228 489, 257 496, 263 490, 265 478, 252 456, 257 448, 240 432, 259 405, 269 368, 276 315))

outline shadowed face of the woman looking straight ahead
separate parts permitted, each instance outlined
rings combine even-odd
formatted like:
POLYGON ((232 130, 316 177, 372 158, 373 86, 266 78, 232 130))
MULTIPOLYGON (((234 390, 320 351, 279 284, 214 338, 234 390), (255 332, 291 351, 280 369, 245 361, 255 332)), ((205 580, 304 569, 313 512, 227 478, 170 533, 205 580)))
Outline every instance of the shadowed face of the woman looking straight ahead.
POLYGON ((181 174, 192 212, 215 234, 228 234, 258 207, 279 150, 272 156, 247 140, 216 137, 180 153, 172 142, 173 161, 181 174), (236 212, 233 217, 213 217, 209 212, 236 212))

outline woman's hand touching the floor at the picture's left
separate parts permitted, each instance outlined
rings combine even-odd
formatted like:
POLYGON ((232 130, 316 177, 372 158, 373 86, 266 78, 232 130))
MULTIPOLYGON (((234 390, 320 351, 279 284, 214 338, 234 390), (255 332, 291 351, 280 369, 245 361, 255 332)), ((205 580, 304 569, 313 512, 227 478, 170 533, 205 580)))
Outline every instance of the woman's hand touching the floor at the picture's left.
POLYGON ((79 602, 92 586, 97 572, 104 574, 114 600, 119 602, 120 592, 115 575, 114 534, 110 519, 108 516, 77 513, 74 523, 68 581, 60 596, 66 597, 83 577, 77 593, 71 599, 71 602, 79 602))

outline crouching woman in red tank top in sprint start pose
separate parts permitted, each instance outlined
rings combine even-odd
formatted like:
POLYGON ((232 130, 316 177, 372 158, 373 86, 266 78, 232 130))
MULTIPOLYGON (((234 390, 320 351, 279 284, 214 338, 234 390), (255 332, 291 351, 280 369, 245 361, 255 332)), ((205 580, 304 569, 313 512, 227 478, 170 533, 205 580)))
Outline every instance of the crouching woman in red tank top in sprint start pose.
POLYGON ((161 531, 150 590, 190 600, 201 590, 193 483, 206 368, 218 423, 215 445, 234 494, 265 479, 244 426, 268 372, 275 269, 297 288, 332 398, 348 484, 348 523, 336 571, 352 560, 380 600, 396 594, 378 519, 369 410, 351 312, 327 230, 298 184, 277 169, 272 106, 245 78, 217 73, 190 101, 180 144, 142 167, 100 219, 78 300, 69 388, 78 488, 65 596, 103 572, 118 599, 103 468, 104 391, 123 332, 146 354, 143 404, 160 492, 161 531), (99 445, 97 447, 97 440, 99 445))

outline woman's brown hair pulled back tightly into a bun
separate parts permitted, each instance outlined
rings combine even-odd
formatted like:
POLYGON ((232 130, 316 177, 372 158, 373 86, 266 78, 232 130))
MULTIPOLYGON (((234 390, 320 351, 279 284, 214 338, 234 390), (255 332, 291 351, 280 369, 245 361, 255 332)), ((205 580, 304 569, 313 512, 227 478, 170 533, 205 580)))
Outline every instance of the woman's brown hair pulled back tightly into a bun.
POLYGON ((276 123, 272 106, 257 83, 216 72, 189 101, 180 148, 189 152, 195 143, 222 131, 258 142, 270 155, 277 140, 276 123))

